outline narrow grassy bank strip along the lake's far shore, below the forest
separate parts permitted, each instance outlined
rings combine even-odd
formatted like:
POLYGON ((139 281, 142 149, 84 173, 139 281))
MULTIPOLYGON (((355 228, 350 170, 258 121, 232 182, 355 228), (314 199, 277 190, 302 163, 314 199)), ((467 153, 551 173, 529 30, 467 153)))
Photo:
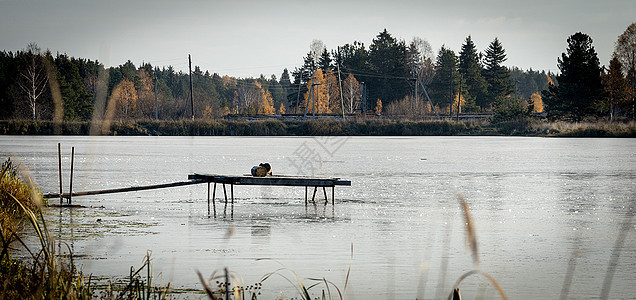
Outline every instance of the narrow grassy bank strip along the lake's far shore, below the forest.
POLYGON ((89 121, 2 120, 1 135, 106 136, 536 136, 636 137, 636 122, 548 122, 405 119, 134 120, 92 126, 89 121), (102 128, 106 128, 103 130, 102 128))

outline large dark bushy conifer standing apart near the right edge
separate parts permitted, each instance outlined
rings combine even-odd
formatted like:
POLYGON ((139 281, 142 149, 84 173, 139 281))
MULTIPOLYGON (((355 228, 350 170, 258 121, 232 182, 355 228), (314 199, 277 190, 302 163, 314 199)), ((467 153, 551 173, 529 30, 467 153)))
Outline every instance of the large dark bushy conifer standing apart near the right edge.
POLYGON ((581 121, 597 112, 603 98, 601 67, 592 38, 577 32, 568 38, 567 52, 558 59, 559 86, 551 86, 544 103, 548 117, 581 121))

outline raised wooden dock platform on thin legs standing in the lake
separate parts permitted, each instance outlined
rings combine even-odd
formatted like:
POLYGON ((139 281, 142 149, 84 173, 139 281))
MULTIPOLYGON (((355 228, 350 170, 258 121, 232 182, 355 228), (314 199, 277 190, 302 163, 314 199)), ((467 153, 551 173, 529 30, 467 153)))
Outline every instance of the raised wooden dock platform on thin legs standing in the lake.
POLYGON ((214 189, 212 192, 212 207, 214 217, 216 218, 216 184, 223 184, 223 194, 225 196, 225 206, 223 214, 227 212, 227 189, 226 184, 230 185, 230 197, 231 197, 231 214, 234 215, 234 185, 270 185, 270 186, 304 186, 305 187, 305 205, 308 203, 308 188, 314 187, 312 202, 315 202, 316 192, 319 187, 322 187, 322 191, 325 196, 325 204, 328 203, 326 188, 331 187, 331 204, 335 203, 335 187, 351 186, 351 181, 342 180, 340 178, 318 178, 318 177, 305 177, 305 176, 281 176, 281 175, 268 175, 265 177, 254 177, 251 175, 242 176, 227 176, 216 174, 191 174, 188 175, 189 180, 197 180, 200 182, 206 182, 208 184, 208 216, 210 215, 210 184, 214 183, 214 189))

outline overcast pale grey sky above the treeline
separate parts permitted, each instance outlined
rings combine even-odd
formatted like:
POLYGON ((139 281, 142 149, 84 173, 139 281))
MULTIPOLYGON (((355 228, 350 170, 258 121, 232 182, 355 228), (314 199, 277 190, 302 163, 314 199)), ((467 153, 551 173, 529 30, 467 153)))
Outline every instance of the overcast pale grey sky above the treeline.
POLYGON ((177 70, 187 70, 191 54, 203 71, 280 77, 302 64, 314 39, 329 50, 368 47, 386 28, 407 42, 427 40, 435 53, 443 44, 459 52, 468 35, 483 51, 498 37, 507 66, 557 72, 568 36, 590 35, 606 65, 633 22, 635 0, 0 0, 0 50, 35 42, 107 67, 131 60, 177 70))

